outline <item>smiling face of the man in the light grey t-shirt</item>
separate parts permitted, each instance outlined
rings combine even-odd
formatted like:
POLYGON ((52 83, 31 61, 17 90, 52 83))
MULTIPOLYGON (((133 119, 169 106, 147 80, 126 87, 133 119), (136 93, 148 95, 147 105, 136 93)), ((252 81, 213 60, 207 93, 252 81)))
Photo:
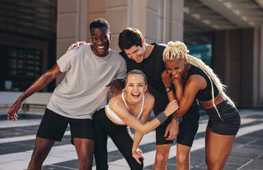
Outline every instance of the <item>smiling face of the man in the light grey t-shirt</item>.
POLYGON ((109 53, 111 34, 107 27, 90 29, 91 49, 98 57, 105 57, 109 53))

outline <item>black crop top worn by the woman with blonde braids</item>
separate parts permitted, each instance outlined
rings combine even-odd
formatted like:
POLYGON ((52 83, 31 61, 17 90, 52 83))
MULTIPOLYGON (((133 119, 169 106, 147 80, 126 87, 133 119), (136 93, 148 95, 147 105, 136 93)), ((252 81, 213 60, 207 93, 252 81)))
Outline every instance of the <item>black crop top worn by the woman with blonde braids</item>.
MULTIPOLYGON (((202 77, 205 78, 205 81, 206 81, 206 87, 203 90, 199 90, 197 92, 196 98, 200 101, 212 100, 212 88, 211 88, 211 82, 208 78, 208 75, 206 75, 201 69, 199 69, 196 66, 193 66, 192 64, 191 64, 191 68, 188 70, 186 81, 188 80, 190 75, 201 75, 202 77)), ((214 97, 216 97, 219 93, 218 88, 216 87, 213 81, 212 81, 212 84, 214 87, 214 97)))

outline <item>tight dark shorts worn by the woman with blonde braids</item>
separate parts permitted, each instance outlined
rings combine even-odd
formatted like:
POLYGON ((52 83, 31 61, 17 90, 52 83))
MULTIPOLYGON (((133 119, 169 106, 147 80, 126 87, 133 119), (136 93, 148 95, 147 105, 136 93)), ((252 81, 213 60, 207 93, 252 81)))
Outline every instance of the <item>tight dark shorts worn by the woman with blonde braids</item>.
POLYGON ((216 134, 236 135, 240 127, 240 115, 236 107, 232 106, 227 100, 216 106, 221 119, 215 108, 205 110, 208 114, 208 127, 216 134))

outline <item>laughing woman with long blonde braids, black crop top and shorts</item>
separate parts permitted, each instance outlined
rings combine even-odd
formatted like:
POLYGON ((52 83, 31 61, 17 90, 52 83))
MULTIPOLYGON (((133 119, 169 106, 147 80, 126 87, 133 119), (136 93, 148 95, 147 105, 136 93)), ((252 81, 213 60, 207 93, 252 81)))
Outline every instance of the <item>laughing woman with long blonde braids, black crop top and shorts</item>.
POLYGON ((205 162, 208 169, 223 169, 240 127, 240 115, 234 102, 225 94, 224 85, 209 66, 188 55, 183 42, 168 42, 163 60, 166 70, 162 80, 169 101, 177 98, 179 109, 174 116, 183 116, 197 98, 209 116, 205 135, 205 162))

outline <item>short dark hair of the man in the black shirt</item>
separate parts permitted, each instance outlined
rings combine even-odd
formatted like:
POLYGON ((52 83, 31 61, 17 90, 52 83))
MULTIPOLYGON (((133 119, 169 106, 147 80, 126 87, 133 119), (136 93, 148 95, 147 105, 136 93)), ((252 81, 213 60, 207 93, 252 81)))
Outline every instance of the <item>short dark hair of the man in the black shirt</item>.
POLYGON ((134 45, 142 47, 142 32, 139 29, 127 27, 118 36, 118 47, 124 51, 134 45))

